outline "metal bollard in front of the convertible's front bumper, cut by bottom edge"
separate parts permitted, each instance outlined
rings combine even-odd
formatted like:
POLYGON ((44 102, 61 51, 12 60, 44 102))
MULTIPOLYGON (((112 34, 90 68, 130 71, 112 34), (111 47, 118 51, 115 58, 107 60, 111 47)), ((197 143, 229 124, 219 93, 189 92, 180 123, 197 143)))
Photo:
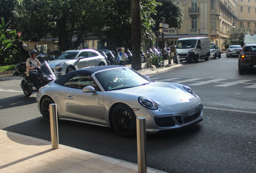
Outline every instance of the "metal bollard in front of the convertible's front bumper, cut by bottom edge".
POLYGON ((147 173, 145 118, 144 117, 136 118, 136 123, 137 123, 138 173, 147 173))

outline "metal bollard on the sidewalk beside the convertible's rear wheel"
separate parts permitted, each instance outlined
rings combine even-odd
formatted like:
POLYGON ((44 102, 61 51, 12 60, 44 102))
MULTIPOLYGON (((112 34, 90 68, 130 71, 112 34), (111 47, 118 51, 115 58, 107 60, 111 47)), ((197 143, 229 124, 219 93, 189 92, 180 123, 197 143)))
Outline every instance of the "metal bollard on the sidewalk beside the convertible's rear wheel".
POLYGON ((57 105, 50 104, 50 126, 51 126, 51 139, 52 149, 59 148, 59 133, 58 133, 58 122, 57 122, 57 105))

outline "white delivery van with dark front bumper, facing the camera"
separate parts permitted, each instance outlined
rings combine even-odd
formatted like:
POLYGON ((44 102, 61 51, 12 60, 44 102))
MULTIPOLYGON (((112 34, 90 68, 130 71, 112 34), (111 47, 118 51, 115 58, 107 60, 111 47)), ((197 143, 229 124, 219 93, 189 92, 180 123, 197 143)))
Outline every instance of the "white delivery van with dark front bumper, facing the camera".
MULTIPOLYGON (((180 62, 193 61, 195 63, 200 59, 208 61, 210 56, 210 40, 209 37, 191 37, 179 38, 176 44, 177 56, 180 56, 180 62)), ((174 62, 177 63, 177 56, 174 62)))

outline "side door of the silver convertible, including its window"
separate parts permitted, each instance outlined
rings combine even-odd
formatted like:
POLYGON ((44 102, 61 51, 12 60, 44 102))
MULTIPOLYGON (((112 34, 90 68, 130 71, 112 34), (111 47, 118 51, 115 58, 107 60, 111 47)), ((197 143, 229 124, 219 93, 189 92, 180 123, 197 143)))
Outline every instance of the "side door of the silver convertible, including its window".
MULTIPOLYGON (((70 78, 71 87, 66 91, 66 102, 68 108, 76 117, 94 121, 105 121, 103 92, 91 76, 87 74, 76 74, 70 78), (93 93, 83 93, 82 89, 92 86, 97 91, 93 93)), ((64 84, 65 86, 65 84, 64 84)))

